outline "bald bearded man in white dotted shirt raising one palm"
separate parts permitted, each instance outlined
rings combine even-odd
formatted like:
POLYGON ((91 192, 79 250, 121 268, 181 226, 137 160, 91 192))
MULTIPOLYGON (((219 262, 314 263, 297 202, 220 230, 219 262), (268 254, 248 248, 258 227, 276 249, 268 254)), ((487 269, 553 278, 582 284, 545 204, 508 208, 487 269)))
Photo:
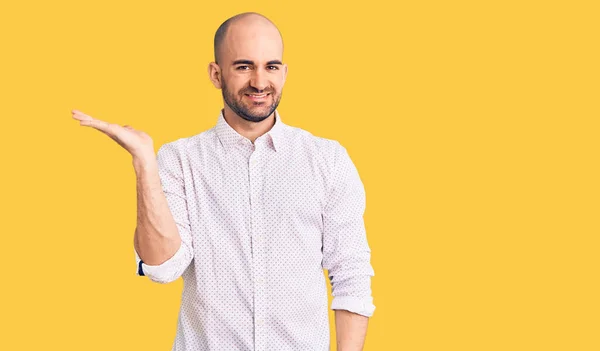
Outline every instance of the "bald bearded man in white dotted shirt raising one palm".
POLYGON ((214 128, 163 145, 74 110, 133 156, 137 274, 184 279, 173 350, 362 350, 372 303, 365 192, 346 149, 284 124, 283 41, 257 13, 225 21, 208 73, 214 128))

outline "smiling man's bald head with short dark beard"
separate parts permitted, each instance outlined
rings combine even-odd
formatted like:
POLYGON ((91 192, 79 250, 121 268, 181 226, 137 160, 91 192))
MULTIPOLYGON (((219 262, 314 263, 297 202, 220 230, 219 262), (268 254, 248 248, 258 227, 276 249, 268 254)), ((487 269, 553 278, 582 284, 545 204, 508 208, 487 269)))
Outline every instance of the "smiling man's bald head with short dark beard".
POLYGON ((269 117, 279 105, 287 76, 277 27, 254 12, 236 15, 217 29, 214 50, 208 73, 222 90, 225 109, 252 122, 269 117))

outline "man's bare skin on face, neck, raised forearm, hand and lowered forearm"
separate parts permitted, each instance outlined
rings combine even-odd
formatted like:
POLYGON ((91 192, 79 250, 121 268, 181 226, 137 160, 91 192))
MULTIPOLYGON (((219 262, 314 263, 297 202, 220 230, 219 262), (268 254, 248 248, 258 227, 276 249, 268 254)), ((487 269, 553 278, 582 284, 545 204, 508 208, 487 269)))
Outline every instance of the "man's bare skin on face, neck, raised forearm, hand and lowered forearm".
MULTIPOLYGON (((240 135, 254 143, 275 122, 287 77, 283 41, 277 28, 256 14, 239 16, 225 36, 219 61, 208 65, 210 81, 222 90, 224 117, 240 135), (236 62, 243 60, 244 62, 236 62), (261 100, 246 94, 268 93, 261 100)), ((78 110, 72 117, 101 131, 133 156, 138 189, 135 249, 144 262, 158 265, 177 251, 181 239, 160 186, 152 138, 129 125, 105 122, 78 110)), ((369 318, 346 310, 335 311, 338 351, 363 349, 369 318)))

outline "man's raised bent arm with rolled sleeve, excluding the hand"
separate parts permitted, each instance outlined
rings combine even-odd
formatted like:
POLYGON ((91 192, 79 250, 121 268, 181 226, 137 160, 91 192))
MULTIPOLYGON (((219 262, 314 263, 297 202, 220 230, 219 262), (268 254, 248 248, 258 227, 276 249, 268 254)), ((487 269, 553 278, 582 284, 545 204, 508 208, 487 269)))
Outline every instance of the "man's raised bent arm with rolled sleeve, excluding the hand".
POLYGON ((133 160, 137 179, 137 274, 158 283, 179 278, 193 258, 183 172, 174 143, 157 158, 133 160))

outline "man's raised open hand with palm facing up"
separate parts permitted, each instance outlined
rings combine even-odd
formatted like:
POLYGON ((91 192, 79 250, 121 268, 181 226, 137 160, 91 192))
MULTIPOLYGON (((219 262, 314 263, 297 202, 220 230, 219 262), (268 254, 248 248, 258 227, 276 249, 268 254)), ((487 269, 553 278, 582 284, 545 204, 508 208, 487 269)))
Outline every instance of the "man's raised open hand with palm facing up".
POLYGON ((108 135, 127 150, 134 160, 155 157, 152 138, 141 130, 136 130, 129 125, 120 126, 115 123, 101 121, 78 110, 72 110, 71 112, 73 118, 79 120, 79 125, 95 128, 108 135))

